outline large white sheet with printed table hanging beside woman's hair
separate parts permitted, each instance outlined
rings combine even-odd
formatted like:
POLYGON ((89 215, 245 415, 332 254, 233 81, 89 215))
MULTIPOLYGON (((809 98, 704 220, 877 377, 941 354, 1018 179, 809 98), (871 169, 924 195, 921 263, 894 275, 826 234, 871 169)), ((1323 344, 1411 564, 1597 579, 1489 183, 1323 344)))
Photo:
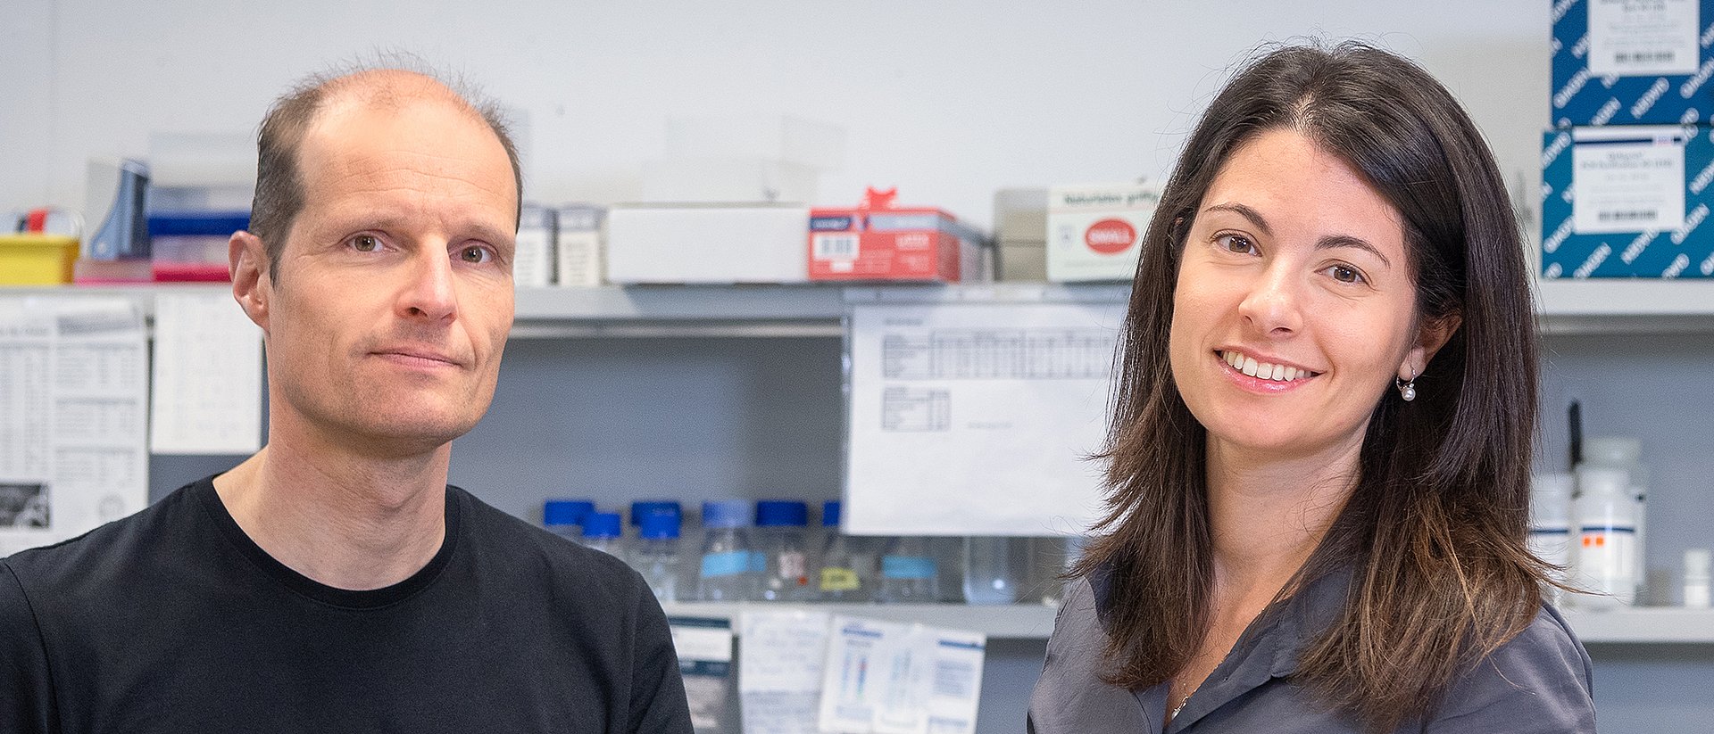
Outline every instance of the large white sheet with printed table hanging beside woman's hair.
POLYGON ((852 306, 845 529, 1049 536, 1099 515, 1119 299, 852 306))

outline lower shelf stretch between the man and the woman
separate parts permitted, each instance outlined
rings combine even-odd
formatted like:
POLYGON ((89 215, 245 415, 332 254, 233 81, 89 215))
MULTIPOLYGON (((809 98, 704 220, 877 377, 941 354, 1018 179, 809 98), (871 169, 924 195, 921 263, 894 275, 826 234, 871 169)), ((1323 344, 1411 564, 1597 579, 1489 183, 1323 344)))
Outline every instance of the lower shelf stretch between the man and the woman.
POLYGON ((732 619, 747 609, 802 609, 867 619, 919 623, 948 630, 980 631, 994 640, 1046 640, 1059 607, 1046 604, 775 604, 775 602, 667 602, 667 616, 732 619))

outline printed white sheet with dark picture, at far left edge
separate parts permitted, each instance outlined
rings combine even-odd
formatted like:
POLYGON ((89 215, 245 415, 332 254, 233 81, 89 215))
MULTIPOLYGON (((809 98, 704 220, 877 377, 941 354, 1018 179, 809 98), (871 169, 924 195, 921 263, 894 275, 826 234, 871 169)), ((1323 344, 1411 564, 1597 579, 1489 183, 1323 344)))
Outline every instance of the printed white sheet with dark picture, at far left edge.
POLYGON ((0 556, 141 510, 147 342, 123 298, 0 298, 0 556))

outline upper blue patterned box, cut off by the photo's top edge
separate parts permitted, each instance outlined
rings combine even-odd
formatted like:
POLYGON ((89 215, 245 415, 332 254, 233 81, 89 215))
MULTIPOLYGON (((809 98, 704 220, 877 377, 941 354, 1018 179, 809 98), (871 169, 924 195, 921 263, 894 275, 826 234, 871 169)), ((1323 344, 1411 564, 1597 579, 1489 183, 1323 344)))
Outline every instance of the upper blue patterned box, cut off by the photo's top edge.
POLYGON ((1714 0, 1553 0, 1553 125, 1714 116, 1714 0))

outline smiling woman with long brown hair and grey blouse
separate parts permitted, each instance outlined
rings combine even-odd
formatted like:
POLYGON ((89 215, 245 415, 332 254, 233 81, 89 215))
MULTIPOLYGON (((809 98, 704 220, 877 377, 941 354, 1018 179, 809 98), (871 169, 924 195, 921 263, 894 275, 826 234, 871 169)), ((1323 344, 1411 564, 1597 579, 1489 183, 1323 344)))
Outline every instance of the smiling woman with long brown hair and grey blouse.
POLYGON ((1493 154, 1414 63, 1280 48, 1143 243, 1058 732, 1592 732, 1525 548, 1536 330, 1493 154))

